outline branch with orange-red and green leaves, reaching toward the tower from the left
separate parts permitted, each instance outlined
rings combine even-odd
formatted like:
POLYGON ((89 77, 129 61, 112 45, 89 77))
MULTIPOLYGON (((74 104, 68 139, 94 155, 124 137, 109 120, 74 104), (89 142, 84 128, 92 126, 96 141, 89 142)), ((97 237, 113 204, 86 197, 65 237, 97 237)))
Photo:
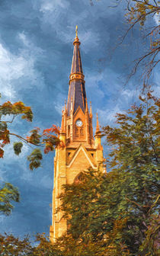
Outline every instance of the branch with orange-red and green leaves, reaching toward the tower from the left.
MULTIPOLYGON (((5 146, 11 143, 11 136, 17 137, 20 141, 14 142, 14 153, 19 155, 23 143, 30 146, 42 146, 44 153, 47 154, 53 151, 56 146, 59 145, 59 128, 53 125, 50 129, 43 130, 40 133, 40 128, 35 128, 30 131, 30 136, 22 137, 18 133, 11 133, 8 124, 12 123, 15 117, 21 116, 22 119, 32 122, 33 113, 30 107, 26 107, 23 102, 15 102, 11 104, 10 101, 0 105, 0 158, 3 158, 5 152, 5 146), (11 120, 2 120, 2 117, 10 117, 11 120)), ((6 119, 6 118, 5 118, 6 119)), ((28 156, 30 161, 30 169, 38 168, 43 158, 40 149, 34 149, 28 156)))

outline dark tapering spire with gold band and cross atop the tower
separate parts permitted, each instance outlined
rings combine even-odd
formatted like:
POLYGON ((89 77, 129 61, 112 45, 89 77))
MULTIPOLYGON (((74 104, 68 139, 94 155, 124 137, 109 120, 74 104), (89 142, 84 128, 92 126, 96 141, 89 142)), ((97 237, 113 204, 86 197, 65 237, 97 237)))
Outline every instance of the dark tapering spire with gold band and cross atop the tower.
POLYGON ((82 70, 82 60, 79 49, 79 39, 78 39, 78 28, 76 26, 75 30, 75 40, 73 42, 74 50, 72 57, 72 68, 71 74, 69 75, 69 95, 67 102, 67 115, 70 115, 71 110, 71 99, 73 101, 73 114, 81 107, 82 111, 85 113, 86 107, 86 93, 85 93, 85 75, 83 75, 82 70))

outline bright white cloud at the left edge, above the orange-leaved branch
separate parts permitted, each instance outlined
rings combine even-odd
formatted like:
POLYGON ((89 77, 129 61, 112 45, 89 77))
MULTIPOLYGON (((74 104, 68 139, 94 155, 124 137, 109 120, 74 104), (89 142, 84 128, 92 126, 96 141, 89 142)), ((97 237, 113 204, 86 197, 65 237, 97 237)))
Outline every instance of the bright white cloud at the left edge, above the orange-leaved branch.
POLYGON ((42 51, 24 33, 19 33, 18 38, 23 43, 18 54, 11 53, 0 42, 0 84, 5 101, 18 100, 18 91, 22 88, 43 87, 43 76, 35 69, 35 56, 42 51))

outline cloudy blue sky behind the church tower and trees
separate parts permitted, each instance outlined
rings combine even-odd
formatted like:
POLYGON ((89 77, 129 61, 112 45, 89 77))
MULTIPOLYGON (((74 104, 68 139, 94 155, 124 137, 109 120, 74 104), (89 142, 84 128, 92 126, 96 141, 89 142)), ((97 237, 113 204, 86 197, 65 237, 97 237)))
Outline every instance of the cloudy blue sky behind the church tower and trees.
MULTIPOLYGON (((36 126, 45 129, 53 123, 60 125, 68 94, 75 25, 82 43, 85 88, 92 102, 94 126, 96 112, 102 126, 113 124, 117 112, 138 101, 142 83, 139 74, 127 85, 125 81, 133 60, 145 52, 149 42, 142 43, 142 30, 137 26, 114 50, 127 25, 123 2, 117 8, 110 5, 113 0, 0 2, 1 100, 24 101, 34 112, 33 123, 17 118, 11 125, 13 132, 26 136, 36 126)), ((158 79, 155 69, 155 85, 158 79)), ((21 155, 14 155, 9 145, 1 159, 1 179, 19 187, 21 202, 14 203, 11 216, 0 216, 0 232, 49 234, 53 154, 44 158, 42 168, 30 172, 26 159, 29 152, 30 148, 24 146, 21 155)))

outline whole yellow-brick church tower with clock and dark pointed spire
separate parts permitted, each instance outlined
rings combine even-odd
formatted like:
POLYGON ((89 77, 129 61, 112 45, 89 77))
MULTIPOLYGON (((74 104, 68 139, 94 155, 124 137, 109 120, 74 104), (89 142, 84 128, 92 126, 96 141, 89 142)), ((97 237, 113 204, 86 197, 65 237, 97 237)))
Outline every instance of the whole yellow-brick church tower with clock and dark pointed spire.
POLYGON ((82 70, 77 28, 73 45, 68 101, 62 111, 62 125, 59 135, 59 139, 64 142, 65 147, 58 146, 54 158, 53 216, 52 226, 50 226, 51 242, 66 232, 67 229, 67 223, 62 218, 62 212, 56 213, 56 208, 60 205, 58 197, 62 193, 62 185, 72 184, 78 179, 79 174, 89 167, 94 170, 104 171, 98 115, 96 133, 93 137, 91 105, 90 110, 88 110, 85 75, 82 70))

